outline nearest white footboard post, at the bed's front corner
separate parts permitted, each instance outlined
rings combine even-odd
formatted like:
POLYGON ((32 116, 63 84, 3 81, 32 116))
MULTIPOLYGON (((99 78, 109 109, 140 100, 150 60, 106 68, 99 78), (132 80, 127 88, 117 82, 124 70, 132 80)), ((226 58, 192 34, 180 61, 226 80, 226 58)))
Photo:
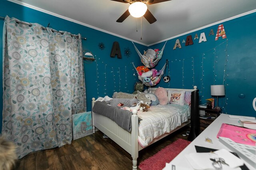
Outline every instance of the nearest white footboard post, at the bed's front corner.
POLYGON ((138 145, 138 128, 139 128, 139 119, 137 115, 137 110, 132 110, 132 169, 137 170, 137 158, 139 155, 139 145, 138 145))

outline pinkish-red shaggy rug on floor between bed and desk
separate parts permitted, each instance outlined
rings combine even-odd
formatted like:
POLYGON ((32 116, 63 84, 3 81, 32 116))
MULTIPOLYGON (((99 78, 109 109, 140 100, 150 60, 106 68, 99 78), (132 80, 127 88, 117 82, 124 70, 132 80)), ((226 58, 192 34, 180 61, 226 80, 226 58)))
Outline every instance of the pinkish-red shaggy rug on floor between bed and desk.
POLYGON ((165 167, 166 162, 173 160, 183 149, 188 146, 190 142, 184 139, 178 139, 174 143, 171 143, 164 149, 149 157, 140 163, 139 168, 141 170, 162 170, 165 167))

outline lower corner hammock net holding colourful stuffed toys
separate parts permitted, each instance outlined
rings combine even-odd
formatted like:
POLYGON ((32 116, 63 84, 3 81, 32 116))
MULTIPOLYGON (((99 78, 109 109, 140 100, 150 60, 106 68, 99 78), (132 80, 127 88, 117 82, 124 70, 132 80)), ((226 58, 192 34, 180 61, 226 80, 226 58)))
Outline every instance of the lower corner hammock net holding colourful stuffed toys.
MULTIPOLYGON (((132 65, 134 66, 133 63, 132 63, 132 65)), ((136 72, 137 72, 137 74, 138 74, 139 80, 140 80, 145 86, 148 86, 148 87, 155 86, 156 84, 158 84, 158 83, 160 82, 161 77, 162 77, 162 75, 164 74, 164 69, 165 69, 165 67, 166 67, 166 63, 164 64, 163 68, 161 69, 160 74, 159 74, 158 76, 156 76, 156 78, 154 78, 154 80, 153 80, 153 79, 151 80, 150 77, 142 77, 142 76, 140 76, 140 74, 139 74, 137 68, 134 66, 134 68, 135 68, 135 70, 136 70, 136 72)))

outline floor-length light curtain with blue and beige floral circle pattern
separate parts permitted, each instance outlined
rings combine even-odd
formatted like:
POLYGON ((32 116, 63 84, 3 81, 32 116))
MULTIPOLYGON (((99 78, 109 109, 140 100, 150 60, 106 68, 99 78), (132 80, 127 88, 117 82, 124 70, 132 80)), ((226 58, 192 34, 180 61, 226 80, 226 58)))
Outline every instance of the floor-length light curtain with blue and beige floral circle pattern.
POLYGON ((72 114, 86 111, 80 35, 6 16, 3 36, 2 134, 19 158, 70 144, 72 114))

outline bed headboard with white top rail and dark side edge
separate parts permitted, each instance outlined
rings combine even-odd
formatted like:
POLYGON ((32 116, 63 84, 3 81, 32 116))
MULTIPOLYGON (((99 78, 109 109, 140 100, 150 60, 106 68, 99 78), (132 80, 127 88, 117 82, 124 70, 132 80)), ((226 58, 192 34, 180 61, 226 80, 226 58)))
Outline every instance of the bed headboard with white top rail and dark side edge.
MULTIPOLYGON (((148 90, 155 91, 157 88, 149 87, 148 90)), ((199 135, 199 90, 197 86, 193 89, 165 88, 168 90, 185 90, 191 92, 191 128, 188 135, 188 141, 193 141, 199 135)), ((154 92, 153 92, 154 93, 154 92)))

